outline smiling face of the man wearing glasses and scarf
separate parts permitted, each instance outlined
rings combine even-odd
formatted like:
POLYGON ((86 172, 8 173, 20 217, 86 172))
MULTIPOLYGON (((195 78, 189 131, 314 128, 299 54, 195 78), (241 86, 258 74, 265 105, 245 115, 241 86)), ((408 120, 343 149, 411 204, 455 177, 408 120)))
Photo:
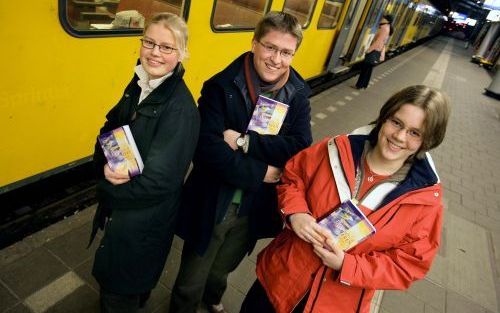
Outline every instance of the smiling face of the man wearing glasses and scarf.
MULTIPOLYGON (((260 41, 252 41, 253 63, 260 79, 272 83, 288 71, 292 57, 283 57, 280 51, 291 52, 297 48, 297 39, 289 34, 276 30, 269 31, 260 41), (270 51, 270 47, 275 51, 270 51), (279 51, 276 51, 279 50, 279 51)), ((286 54, 286 53, 285 53, 286 54)))

